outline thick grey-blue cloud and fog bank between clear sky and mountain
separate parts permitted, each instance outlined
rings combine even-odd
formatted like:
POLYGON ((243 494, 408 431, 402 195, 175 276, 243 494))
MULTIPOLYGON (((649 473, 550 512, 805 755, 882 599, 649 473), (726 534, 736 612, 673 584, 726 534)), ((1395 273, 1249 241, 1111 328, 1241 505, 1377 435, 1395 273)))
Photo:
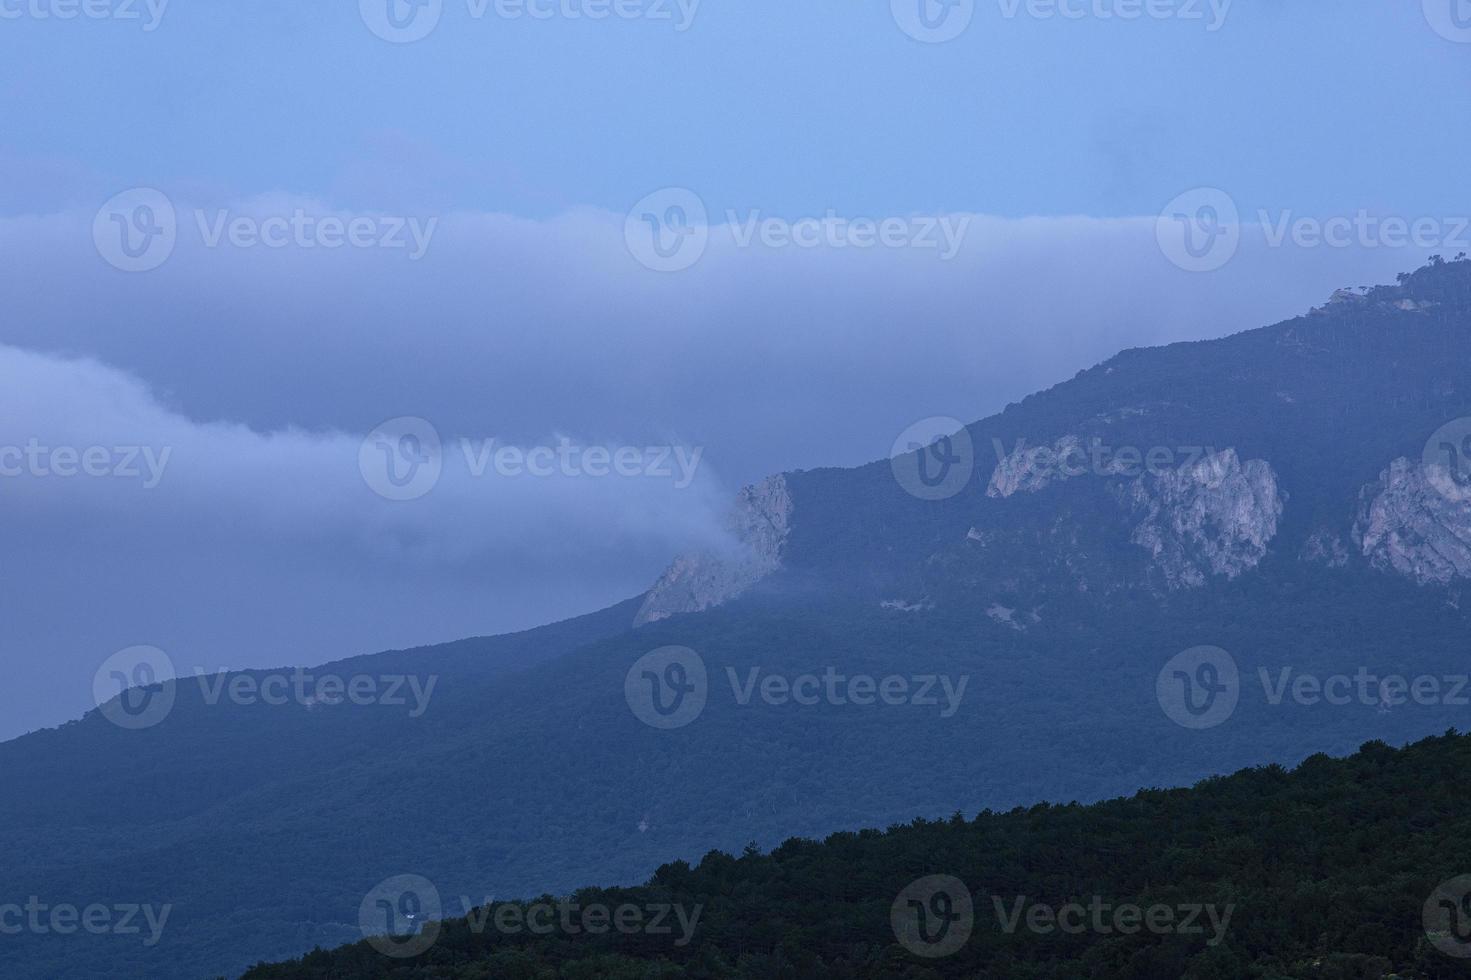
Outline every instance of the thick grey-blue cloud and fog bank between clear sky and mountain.
POLYGON ((725 500, 769 472, 875 459, 918 419, 980 416, 1119 347, 1290 315, 1406 258, 1274 249, 1258 231, 1202 281, 1169 263, 1152 219, 975 218, 950 262, 716 241, 687 274, 646 281, 609 216, 462 215, 407 274, 304 253, 319 288, 303 290, 278 253, 222 263, 188 243, 119 278, 72 249, 81 222, 0 221, 18 263, 0 281, 18 310, 0 441, 128 449, 138 475, 7 484, 25 515, 0 572, 0 643, 25 677, 0 695, 10 736, 76 717, 97 665, 134 643, 185 670, 319 664, 616 602, 716 534, 725 500), (522 272, 474 275, 509 266, 522 272), (435 427, 447 464, 409 505, 357 465, 362 440, 402 415, 435 427), (700 456, 690 480, 677 461, 668 477, 507 478, 488 464, 474 477, 491 440, 700 456), (144 449, 169 453, 162 472, 144 449), (79 594, 97 615, 57 633, 79 594))

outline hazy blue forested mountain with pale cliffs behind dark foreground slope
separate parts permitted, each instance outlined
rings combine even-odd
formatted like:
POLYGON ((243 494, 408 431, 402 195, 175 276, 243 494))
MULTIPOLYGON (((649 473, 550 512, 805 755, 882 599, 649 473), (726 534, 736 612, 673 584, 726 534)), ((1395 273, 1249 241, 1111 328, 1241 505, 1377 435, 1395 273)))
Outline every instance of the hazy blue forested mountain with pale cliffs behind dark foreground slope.
POLYGON ((269 703, 282 671, 119 693, 0 745, 0 903, 168 924, 7 937, 6 973, 238 974, 362 939, 396 876, 452 917, 1464 725, 1468 375, 1471 262, 1437 259, 774 475, 613 608, 310 671, 418 700, 269 703))

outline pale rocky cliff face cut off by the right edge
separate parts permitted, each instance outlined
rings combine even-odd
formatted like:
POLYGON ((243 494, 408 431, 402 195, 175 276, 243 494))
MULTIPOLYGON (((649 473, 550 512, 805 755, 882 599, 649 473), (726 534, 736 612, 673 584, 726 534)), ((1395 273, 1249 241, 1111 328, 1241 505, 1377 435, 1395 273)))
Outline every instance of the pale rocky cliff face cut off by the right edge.
POLYGON ((1396 459, 1359 502, 1353 534, 1375 568, 1422 586, 1471 578, 1471 491, 1443 469, 1396 459))

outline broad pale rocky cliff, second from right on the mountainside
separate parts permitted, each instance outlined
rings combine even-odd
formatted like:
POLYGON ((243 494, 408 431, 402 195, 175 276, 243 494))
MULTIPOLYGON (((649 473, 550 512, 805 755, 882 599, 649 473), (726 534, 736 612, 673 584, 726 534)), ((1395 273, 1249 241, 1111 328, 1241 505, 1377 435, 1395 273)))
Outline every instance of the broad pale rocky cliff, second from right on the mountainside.
POLYGON ((1256 568, 1286 506, 1271 465, 1243 464, 1234 449, 1141 477, 1125 499, 1144 515, 1130 540, 1149 552, 1169 589, 1256 568))

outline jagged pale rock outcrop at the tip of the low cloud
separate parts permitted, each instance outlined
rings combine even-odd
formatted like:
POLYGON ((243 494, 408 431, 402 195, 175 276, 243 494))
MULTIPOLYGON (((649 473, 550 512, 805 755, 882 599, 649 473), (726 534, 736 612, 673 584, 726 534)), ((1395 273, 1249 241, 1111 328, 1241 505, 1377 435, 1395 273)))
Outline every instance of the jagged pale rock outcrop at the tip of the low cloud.
POLYGON ((736 497, 725 519, 728 547, 681 555, 644 597, 634 625, 728 602, 781 568, 791 530, 786 477, 768 477, 736 497))

